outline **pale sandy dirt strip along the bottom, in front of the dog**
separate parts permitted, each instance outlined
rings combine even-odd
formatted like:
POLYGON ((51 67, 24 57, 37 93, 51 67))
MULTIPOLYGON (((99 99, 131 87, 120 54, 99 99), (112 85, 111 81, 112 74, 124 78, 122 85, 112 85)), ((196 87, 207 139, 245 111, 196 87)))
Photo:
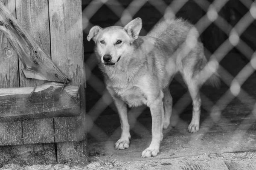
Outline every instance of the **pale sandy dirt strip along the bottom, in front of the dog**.
POLYGON ((243 170, 256 169, 256 153, 216 153, 198 156, 179 157, 144 161, 117 161, 111 156, 90 156, 90 164, 51 164, 20 167, 8 164, 0 170, 229 170, 227 164, 236 162, 243 170))

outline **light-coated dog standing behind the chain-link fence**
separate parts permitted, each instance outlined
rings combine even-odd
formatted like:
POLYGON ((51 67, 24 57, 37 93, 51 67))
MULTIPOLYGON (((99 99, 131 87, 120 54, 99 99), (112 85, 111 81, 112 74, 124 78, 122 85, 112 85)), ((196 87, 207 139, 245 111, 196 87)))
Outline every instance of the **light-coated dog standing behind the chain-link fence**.
POLYGON ((197 29, 183 19, 164 20, 146 36, 139 36, 142 20, 136 18, 125 27, 93 26, 87 36, 95 42, 95 54, 104 75, 106 88, 113 97, 120 122, 121 137, 115 148, 129 147, 130 127, 127 105, 147 105, 152 117, 151 144, 142 157, 157 156, 163 129, 170 124, 172 96, 169 84, 180 73, 192 97, 192 121, 189 132, 199 130, 204 82, 218 84, 218 64, 207 62, 197 29))

